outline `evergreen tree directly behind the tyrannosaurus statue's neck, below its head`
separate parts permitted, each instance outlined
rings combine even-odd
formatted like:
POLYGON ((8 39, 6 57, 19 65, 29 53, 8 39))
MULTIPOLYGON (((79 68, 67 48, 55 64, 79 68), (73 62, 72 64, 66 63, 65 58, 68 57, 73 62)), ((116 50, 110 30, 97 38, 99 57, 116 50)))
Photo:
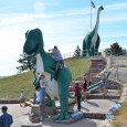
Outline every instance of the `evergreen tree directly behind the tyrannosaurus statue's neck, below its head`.
POLYGON ((35 59, 30 60, 28 59, 28 55, 25 53, 20 54, 20 59, 18 62, 21 64, 21 66, 17 66, 18 72, 23 72, 23 71, 31 71, 35 66, 35 59))

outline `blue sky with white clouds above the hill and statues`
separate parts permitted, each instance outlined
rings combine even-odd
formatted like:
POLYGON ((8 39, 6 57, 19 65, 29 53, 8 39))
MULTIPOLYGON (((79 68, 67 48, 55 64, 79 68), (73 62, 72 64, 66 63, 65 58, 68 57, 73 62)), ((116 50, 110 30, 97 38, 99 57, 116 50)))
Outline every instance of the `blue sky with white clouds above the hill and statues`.
MULTIPOLYGON (((127 49, 127 0, 93 0, 92 28, 100 12, 99 49, 118 42, 127 49)), ((57 45, 62 54, 82 49, 83 39, 91 31, 91 0, 0 0, 0 76, 18 73, 15 66, 23 52, 25 32, 39 28, 44 49, 57 45)))

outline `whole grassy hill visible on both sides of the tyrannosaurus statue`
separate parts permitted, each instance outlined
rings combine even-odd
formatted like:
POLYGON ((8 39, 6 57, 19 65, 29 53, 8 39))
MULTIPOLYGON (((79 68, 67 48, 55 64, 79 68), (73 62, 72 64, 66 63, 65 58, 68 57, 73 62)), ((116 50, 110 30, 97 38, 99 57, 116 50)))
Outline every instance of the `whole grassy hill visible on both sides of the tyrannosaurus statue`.
MULTIPOLYGON (((87 59, 70 59, 65 61, 65 65, 70 67, 73 80, 75 80, 89 70, 91 61, 87 59)), ((32 71, 0 78, 0 98, 19 98, 22 88, 28 98, 33 96, 33 80, 32 71)))

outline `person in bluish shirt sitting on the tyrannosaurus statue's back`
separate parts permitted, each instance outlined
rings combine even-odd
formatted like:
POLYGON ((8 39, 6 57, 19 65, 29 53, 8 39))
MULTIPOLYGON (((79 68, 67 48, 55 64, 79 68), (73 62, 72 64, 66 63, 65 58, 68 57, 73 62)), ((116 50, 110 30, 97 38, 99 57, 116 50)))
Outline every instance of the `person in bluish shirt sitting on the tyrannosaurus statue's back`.
POLYGON ((61 52, 57 49, 57 46, 54 46, 54 49, 51 51, 55 57, 55 62, 56 62, 55 71, 57 72, 59 66, 61 66, 61 68, 62 68, 62 66, 64 65, 63 57, 62 57, 61 52))

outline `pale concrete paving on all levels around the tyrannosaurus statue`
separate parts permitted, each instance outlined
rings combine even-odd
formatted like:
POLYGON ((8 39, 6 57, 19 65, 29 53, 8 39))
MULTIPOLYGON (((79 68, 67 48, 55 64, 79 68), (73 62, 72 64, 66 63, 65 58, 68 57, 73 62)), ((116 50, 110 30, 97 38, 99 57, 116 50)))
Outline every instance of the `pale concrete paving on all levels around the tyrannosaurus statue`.
MULTIPOLYGON (((117 100, 109 99, 89 99, 87 103, 82 102, 82 112, 83 113, 108 113, 112 105, 115 105, 117 100)), ((0 107, 3 106, 0 104, 0 107)), ((19 104, 6 104, 8 106, 8 113, 13 116, 14 123, 12 127, 21 127, 22 124, 30 124, 29 114, 31 112, 31 107, 20 107, 19 104)), ((72 106, 74 110, 76 110, 76 104, 72 106)), ((1 115, 1 113, 0 113, 1 115)), ((65 125, 65 124, 55 124, 51 121, 43 121, 43 127, 97 127, 103 120, 97 119, 87 119, 84 118, 74 124, 65 125)))

